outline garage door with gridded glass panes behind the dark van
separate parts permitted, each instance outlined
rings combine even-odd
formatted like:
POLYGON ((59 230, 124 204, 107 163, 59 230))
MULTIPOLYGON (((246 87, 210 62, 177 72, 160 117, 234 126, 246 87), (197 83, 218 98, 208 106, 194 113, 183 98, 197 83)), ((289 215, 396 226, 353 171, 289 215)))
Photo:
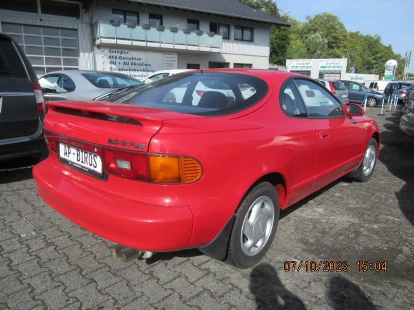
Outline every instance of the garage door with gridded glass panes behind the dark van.
POLYGON ((79 69, 77 30, 3 23, 2 31, 24 48, 38 76, 56 70, 79 69))

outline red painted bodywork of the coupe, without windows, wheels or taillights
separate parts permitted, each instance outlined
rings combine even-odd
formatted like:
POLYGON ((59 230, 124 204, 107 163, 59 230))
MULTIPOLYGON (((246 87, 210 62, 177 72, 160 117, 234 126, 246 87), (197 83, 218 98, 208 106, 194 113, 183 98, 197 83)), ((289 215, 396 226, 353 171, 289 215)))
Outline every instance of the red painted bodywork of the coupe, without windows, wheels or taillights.
POLYGON ((153 252, 201 248, 220 235, 259 180, 274 181, 285 209, 359 167, 372 137, 379 144, 378 126, 366 116, 287 116, 279 104, 281 88, 287 79, 306 77, 254 69, 204 72, 255 76, 268 91, 257 104, 219 117, 123 103, 48 103, 44 129, 52 150, 33 170, 41 198, 85 229, 124 246, 153 252), (128 117, 140 125, 103 122, 91 114, 128 117), (202 175, 188 184, 111 173, 97 179, 64 165, 53 141, 101 157, 108 149, 185 155, 202 167, 202 175))

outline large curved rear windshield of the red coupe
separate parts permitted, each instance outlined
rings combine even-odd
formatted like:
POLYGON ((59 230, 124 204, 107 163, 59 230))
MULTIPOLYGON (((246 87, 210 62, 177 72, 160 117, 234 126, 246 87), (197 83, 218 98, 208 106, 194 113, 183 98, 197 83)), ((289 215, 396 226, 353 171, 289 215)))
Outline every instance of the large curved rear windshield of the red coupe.
POLYGON ((183 72, 115 94, 106 101, 187 114, 233 114, 258 103, 268 91, 254 76, 218 72, 183 72))

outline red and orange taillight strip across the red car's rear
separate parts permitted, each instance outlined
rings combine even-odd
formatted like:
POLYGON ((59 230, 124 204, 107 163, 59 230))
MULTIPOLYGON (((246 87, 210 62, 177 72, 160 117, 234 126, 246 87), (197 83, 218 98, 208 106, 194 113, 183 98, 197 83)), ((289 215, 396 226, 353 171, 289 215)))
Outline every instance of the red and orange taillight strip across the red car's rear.
POLYGON ((108 148, 79 142, 44 131, 45 141, 51 152, 57 154, 59 145, 73 143, 101 157, 105 173, 126 179, 157 184, 187 184, 198 181, 203 173, 200 163, 194 158, 181 155, 149 154, 108 148))

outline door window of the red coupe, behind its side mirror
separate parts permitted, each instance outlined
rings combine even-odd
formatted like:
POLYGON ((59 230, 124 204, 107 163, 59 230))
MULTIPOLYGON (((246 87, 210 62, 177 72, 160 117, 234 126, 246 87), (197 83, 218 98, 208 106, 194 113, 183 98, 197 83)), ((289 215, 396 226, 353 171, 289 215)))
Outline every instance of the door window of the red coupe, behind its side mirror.
POLYGON ((295 79, 309 117, 330 118, 344 116, 342 106, 330 92, 309 80, 295 79))

